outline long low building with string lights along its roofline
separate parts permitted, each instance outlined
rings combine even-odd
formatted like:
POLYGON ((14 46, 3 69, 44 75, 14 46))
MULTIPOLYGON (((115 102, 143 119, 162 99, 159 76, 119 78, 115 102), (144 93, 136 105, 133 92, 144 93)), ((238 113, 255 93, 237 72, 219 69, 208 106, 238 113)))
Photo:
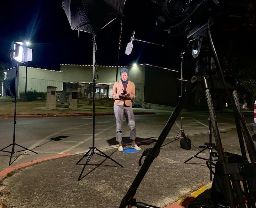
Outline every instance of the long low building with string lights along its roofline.
MULTIPOLYGON (((129 80, 135 83, 136 99, 145 104, 175 106, 180 95, 180 76, 177 70, 140 64, 135 66, 95 66, 95 98, 108 99, 112 87, 120 80, 122 68, 129 70, 129 80)), ((15 89, 16 67, 6 71, 11 90, 15 89)), ((25 91, 26 66, 19 66, 17 72, 17 95, 25 91)), ((57 91, 77 88, 79 97, 93 97, 92 65, 60 65, 60 71, 41 68, 27 68, 27 91, 46 92, 47 86, 57 91)), ((14 93, 13 93, 14 94, 14 93)), ((8 95, 8 92, 3 92, 8 95)))

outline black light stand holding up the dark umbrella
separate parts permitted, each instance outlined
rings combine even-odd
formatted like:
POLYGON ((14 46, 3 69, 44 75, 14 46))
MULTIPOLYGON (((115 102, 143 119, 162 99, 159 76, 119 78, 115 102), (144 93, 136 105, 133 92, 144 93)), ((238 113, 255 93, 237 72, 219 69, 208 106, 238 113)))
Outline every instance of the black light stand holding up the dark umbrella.
POLYGON ((78 160, 78 162, 76 163, 76 165, 79 164, 79 162, 85 158, 86 156, 88 156, 85 164, 84 164, 84 167, 78 177, 78 181, 81 180, 81 176, 84 172, 84 169, 85 169, 85 166, 88 164, 88 162, 90 161, 90 159, 92 158, 92 156, 94 154, 96 155, 100 155, 102 157, 105 157, 105 158, 108 158, 108 159, 111 159, 113 162, 115 162, 117 165, 119 165, 120 167, 124 167, 122 165, 120 165, 118 162, 116 162, 114 159, 110 158, 108 155, 106 155, 104 152, 100 151, 97 147, 95 147, 94 143, 95 143, 95 35, 93 34, 93 39, 92 39, 92 42, 93 42, 93 55, 92 55, 92 59, 93 59, 93 67, 92 67, 92 74, 93 74, 93 110, 92 110, 92 147, 89 147, 89 150, 84 154, 84 156, 78 160), (101 154, 95 152, 95 150, 99 151, 101 154))

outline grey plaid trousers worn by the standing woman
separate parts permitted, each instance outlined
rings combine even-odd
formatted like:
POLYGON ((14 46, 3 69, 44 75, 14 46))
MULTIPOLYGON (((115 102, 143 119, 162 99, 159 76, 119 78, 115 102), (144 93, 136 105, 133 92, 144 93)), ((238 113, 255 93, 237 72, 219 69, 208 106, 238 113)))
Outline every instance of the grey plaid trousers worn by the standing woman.
POLYGON ((116 141, 122 142, 124 117, 130 129, 130 139, 135 140, 136 128, 132 106, 114 105, 114 113, 116 117, 116 141))

